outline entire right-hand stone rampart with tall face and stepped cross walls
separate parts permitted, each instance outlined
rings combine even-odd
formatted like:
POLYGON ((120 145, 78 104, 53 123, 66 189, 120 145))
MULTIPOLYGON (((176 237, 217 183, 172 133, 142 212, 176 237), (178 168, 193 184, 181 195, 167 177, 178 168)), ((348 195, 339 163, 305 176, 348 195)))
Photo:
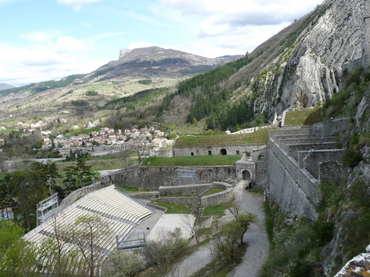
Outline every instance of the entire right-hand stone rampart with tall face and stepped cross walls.
POLYGON ((320 169, 325 170, 322 174, 326 177, 343 172, 343 167, 328 170, 321 163, 342 160, 343 150, 334 149, 332 135, 344 131, 348 122, 349 118, 341 118, 309 128, 270 131, 270 194, 284 213, 293 212, 297 216, 317 219, 315 209, 320 201, 317 187, 320 169), (300 138, 301 135, 307 138, 300 138))

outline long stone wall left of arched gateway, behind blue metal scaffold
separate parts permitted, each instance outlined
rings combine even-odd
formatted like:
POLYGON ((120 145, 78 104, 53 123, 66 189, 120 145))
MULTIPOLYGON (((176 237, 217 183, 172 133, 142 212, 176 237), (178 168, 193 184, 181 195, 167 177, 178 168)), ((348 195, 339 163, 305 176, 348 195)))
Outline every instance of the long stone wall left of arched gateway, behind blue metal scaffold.
MULTIPOLYGON (((193 167, 196 170, 195 182, 204 184, 221 181, 236 182, 235 166, 193 167)), ((128 185, 138 188, 158 190, 160 186, 179 184, 176 167, 140 167, 135 170, 112 173, 106 176, 107 183, 128 185)), ((191 184, 191 178, 183 178, 183 184, 191 184)))

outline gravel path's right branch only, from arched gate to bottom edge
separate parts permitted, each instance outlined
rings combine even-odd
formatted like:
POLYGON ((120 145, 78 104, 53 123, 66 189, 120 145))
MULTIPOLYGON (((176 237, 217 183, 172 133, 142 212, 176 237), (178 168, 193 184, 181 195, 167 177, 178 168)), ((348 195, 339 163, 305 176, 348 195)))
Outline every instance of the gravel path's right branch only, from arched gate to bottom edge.
POLYGON ((269 254, 269 239, 265 228, 265 212, 263 207, 263 196, 247 190, 239 183, 234 192, 242 195, 242 208, 245 211, 254 213, 260 222, 252 224, 244 234, 244 241, 248 244, 243 261, 236 267, 233 277, 254 277, 265 262, 269 254))

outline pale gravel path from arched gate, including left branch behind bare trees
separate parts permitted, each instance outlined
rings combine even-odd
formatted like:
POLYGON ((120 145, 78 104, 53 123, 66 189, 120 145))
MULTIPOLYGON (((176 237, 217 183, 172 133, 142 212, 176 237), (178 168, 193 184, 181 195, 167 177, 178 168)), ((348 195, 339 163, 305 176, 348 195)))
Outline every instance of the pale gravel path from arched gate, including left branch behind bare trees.
MULTIPOLYGON (((242 183, 234 187, 234 192, 242 196, 242 212, 248 211, 256 214, 260 222, 258 224, 252 224, 244 234, 244 242, 248 244, 247 252, 244 254, 243 261, 230 276, 254 277, 269 253, 269 239, 265 228, 263 196, 244 190, 242 183)), ((233 215, 226 210, 226 215, 220 220, 226 222, 232 218, 233 215)), ((187 275, 191 276, 211 261, 212 255, 208 245, 202 246, 198 251, 182 261, 179 271, 187 272, 187 275)))

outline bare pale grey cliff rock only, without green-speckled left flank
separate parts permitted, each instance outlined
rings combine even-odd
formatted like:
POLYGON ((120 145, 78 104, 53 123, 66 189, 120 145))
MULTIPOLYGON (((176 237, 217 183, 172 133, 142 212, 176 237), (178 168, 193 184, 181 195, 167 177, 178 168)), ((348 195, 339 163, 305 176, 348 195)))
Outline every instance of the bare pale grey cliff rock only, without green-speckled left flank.
POLYGON ((285 105, 310 107, 338 91, 341 65, 361 57, 363 0, 327 0, 326 11, 302 32, 287 68, 295 68, 282 90, 285 105))

